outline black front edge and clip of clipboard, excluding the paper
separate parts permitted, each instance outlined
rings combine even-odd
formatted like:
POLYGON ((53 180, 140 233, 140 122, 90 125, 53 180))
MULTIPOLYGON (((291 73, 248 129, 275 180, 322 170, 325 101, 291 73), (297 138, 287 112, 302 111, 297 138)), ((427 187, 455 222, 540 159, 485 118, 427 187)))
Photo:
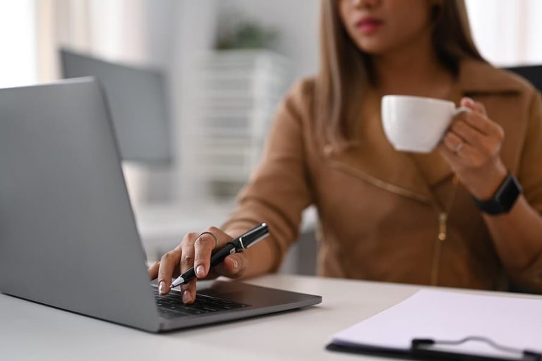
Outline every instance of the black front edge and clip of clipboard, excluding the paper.
POLYGON ((414 338, 411 341, 411 347, 407 350, 396 348, 381 348, 370 345, 348 345, 341 343, 330 343, 326 346, 326 350, 339 351, 344 353, 355 353, 361 355, 374 355, 380 357, 395 357, 403 360, 435 360, 435 361, 542 361, 542 353, 533 350, 519 350, 510 348, 504 345, 499 345, 491 341, 489 338, 481 336, 468 336, 457 341, 442 341, 433 340, 431 338, 414 338), (487 343, 502 353, 502 357, 454 352, 452 350, 439 350, 435 348, 438 345, 462 345, 467 341, 480 341, 487 343), (505 356, 507 355, 507 356, 505 356))

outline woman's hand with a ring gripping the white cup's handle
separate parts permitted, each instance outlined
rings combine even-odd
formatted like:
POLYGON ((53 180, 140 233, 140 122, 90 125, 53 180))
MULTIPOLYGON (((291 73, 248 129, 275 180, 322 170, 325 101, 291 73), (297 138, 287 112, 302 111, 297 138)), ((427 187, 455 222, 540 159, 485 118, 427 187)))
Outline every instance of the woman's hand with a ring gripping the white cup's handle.
POLYGON ((471 111, 454 118, 438 150, 471 195, 486 200, 493 197, 507 175, 500 159, 505 132, 488 118, 483 104, 463 98, 461 105, 471 111))

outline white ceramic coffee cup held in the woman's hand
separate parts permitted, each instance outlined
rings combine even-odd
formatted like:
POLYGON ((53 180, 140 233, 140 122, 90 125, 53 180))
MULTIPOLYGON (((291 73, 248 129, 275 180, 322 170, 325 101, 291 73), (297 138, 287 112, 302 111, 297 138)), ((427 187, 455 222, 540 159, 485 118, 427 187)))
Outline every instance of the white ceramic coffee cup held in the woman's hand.
POLYGON ((385 95, 382 98, 384 133, 395 149, 428 153, 442 139, 452 118, 468 108, 456 108, 453 102, 409 95, 385 95))

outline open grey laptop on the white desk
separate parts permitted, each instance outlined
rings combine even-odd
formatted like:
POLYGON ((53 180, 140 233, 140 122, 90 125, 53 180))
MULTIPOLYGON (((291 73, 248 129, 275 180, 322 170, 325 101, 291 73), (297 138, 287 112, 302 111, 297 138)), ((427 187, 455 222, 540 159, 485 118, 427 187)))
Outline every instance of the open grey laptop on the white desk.
POLYGON ((2 293, 151 332, 322 300, 236 281, 198 290, 194 305, 157 296, 93 78, 0 90, 0 169, 2 293))

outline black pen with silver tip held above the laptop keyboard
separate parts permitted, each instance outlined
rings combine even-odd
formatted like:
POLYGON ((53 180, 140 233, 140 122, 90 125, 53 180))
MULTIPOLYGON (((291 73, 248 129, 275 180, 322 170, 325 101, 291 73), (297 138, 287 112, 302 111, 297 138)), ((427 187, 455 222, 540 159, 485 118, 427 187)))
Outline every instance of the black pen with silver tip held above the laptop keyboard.
MULTIPOLYGON (((212 254, 210 268, 215 267, 217 264, 224 261, 224 258, 229 255, 233 255, 237 252, 243 252, 243 250, 255 245, 259 240, 267 237, 267 235, 269 235, 269 227, 265 223, 255 226, 251 230, 246 231, 246 233, 239 235, 239 237, 234 238, 231 240, 231 242, 227 243, 227 245, 212 254)), ((191 269, 188 269, 188 271, 181 274, 181 276, 177 277, 177 279, 171 283, 170 288, 174 288, 183 283, 188 283, 194 278, 195 270, 194 267, 192 267, 191 269)))

